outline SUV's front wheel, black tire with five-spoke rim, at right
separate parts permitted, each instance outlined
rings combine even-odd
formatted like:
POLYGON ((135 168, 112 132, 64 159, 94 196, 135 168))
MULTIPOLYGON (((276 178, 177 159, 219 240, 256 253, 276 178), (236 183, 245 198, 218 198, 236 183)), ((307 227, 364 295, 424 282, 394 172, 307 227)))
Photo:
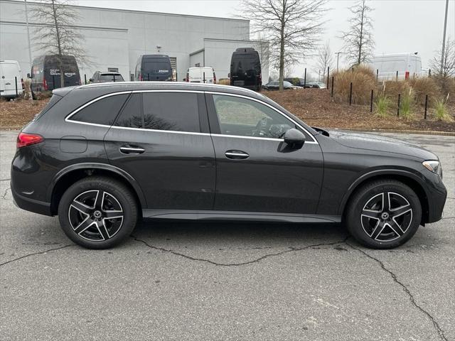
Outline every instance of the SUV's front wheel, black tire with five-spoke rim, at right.
POLYGON ((416 193, 397 180, 375 180, 356 190, 348 202, 346 227, 363 246, 392 249, 417 232, 422 205, 416 193))

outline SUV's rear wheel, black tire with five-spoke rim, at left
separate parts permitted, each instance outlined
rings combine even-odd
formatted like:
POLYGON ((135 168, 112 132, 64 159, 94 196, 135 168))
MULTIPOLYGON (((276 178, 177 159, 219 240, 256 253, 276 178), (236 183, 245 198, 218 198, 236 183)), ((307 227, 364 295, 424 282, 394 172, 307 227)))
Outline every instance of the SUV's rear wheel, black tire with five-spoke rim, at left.
POLYGON ((132 233, 138 219, 137 201, 123 183, 90 176, 65 191, 58 205, 58 219, 63 232, 76 244, 108 249, 132 233))

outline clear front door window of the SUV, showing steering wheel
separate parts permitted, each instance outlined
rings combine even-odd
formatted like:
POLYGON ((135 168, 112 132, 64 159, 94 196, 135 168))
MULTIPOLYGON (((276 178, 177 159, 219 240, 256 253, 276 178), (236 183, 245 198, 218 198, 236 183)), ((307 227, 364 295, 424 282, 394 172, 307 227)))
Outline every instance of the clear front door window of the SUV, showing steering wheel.
POLYGON ((295 124, 262 103, 213 94, 221 134, 282 139, 295 124))

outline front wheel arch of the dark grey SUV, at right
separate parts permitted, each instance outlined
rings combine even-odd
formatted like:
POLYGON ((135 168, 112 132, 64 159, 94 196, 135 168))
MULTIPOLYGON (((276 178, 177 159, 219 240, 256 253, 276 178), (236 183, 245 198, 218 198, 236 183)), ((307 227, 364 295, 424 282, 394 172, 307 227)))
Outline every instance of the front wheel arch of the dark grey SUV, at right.
POLYGON ((394 173, 373 173, 370 174, 370 176, 360 178, 357 182, 350 186, 341 202, 340 212, 343 217, 343 221, 346 218, 345 215, 349 207, 350 199, 355 195, 355 193, 358 192, 358 190, 360 190, 360 188, 363 188, 365 185, 368 185, 368 183, 372 183, 376 180, 397 180, 400 181, 400 183, 404 183, 409 186, 412 190, 414 190, 417 197, 419 197, 420 205, 422 206, 421 224, 424 224, 428 221, 429 202, 427 193, 425 193, 422 184, 416 178, 416 175, 406 171, 395 171, 394 173))

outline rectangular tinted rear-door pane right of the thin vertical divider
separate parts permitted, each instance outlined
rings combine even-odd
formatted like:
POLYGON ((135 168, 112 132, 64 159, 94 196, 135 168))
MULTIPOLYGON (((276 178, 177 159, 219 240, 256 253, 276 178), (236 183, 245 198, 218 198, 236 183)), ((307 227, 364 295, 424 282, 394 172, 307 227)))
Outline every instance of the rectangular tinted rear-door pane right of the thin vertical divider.
POLYGON ((144 128, 199 132, 198 95, 144 92, 144 128))

